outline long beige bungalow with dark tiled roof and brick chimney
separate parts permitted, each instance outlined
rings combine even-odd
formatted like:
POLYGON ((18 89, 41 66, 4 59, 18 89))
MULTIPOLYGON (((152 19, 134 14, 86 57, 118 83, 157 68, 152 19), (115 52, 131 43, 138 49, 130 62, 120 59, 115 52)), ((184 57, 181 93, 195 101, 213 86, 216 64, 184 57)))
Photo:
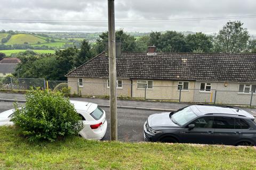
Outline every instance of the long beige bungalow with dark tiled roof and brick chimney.
MULTIPOLYGON (((150 47, 122 52, 116 66, 118 96, 256 105, 256 54, 156 53, 150 47)), ((66 75, 71 92, 83 96, 109 95, 108 76, 105 53, 66 75)))

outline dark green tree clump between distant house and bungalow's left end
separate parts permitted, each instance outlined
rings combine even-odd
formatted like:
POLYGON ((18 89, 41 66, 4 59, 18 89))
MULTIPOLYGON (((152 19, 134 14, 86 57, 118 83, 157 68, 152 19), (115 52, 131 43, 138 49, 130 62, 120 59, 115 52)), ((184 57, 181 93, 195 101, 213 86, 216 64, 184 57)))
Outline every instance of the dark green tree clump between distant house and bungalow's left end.
POLYGON ((74 68, 76 48, 60 50, 55 54, 36 54, 26 51, 17 56, 19 63, 13 75, 20 78, 44 78, 46 80, 66 80, 65 75, 74 68))

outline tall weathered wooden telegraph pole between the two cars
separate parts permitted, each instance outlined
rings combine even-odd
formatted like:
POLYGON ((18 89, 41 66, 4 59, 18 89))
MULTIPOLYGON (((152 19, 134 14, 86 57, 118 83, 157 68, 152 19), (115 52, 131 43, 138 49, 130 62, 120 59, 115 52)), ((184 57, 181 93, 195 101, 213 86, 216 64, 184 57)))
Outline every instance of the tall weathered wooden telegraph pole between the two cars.
POLYGON ((115 1, 108 0, 110 140, 117 140, 115 1))

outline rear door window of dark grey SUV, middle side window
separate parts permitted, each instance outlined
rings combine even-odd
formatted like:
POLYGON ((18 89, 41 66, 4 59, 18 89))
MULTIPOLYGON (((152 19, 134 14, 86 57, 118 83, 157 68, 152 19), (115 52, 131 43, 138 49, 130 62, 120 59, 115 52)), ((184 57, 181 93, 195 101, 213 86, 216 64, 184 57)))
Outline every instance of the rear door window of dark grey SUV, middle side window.
POLYGON ((235 118, 234 117, 214 117, 214 128, 215 129, 234 129, 235 118))

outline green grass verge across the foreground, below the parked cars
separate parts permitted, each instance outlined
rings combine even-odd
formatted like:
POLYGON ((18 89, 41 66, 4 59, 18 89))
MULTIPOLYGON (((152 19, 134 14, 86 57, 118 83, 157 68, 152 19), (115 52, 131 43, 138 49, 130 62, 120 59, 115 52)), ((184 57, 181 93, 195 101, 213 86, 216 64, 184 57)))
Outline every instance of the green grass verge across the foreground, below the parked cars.
POLYGON ((84 140, 28 142, 0 128, 0 169, 255 169, 253 147, 84 140))

